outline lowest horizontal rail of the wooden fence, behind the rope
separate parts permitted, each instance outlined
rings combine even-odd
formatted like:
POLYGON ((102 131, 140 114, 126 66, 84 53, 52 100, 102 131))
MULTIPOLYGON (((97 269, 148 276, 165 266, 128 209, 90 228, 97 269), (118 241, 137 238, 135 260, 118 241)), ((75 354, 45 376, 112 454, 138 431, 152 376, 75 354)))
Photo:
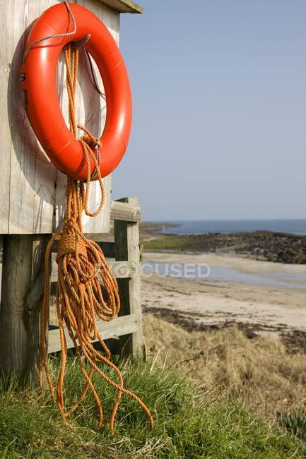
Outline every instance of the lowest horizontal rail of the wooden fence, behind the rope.
MULTIPOLYGON (((136 316, 116 317, 110 322, 98 321, 98 330, 102 340, 109 338, 117 338, 119 335, 126 333, 135 333, 139 327, 138 318, 136 316)), ((68 333, 65 333, 67 347, 73 347, 73 342, 68 333)), ((49 330, 48 353, 61 350, 59 340, 59 329, 49 330)))

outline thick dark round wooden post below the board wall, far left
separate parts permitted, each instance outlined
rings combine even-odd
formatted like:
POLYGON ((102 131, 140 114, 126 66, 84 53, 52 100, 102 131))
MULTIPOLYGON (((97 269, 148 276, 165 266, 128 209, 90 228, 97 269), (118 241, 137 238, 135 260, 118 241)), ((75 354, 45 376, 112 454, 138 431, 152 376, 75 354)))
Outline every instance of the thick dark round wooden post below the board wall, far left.
POLYGON ((0 307, 0 370, 37 383, 40 306, 49 234, 4 236, 0 307))

